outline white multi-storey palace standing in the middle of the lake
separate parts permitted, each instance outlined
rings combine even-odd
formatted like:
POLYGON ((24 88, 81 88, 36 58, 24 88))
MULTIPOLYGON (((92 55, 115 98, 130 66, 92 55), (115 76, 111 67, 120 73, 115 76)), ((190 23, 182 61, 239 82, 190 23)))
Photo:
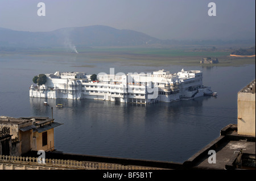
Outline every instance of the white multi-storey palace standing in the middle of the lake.
POLYGON ((211 95, 203 86, 200 70, 183 69, 179 73, 159 70, 152 74, 118 73, 97 75, 97 81, 81 72, 46 74, 47 82, 30 87, 30 97, 52 99, 98 99, 121 103, 172 102, 211 95))

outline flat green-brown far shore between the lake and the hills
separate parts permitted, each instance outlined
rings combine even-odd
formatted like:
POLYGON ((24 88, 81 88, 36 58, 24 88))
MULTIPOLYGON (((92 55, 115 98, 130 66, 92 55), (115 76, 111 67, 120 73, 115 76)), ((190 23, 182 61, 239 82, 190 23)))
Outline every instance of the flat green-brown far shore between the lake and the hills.
MULTIPOLYGON (((79 48, 78 54, 72 50, 67 50, 62 47, 45 48, 45 49, 31 49, 13 52, 2 51, 0 49, 0 57, 9 58, 11 56, 28 56, 33 60, 38 58, 56 58, 61 60, 63 56, 67 60, 74 58, 81 61, 77 64, 71 64, 71 67, 97 67, 100 62, 118 63, 123 66, 241 66, 241 65, 255 65, 254 56, 238 56, 230 52, 230 48, 218 48, 217 50, 201 49, 195 50, 199 47, 92 47, 79 48), (203 57, 218 58, 218 64, 200 64, 203 57)), ((59 63, 59 62, 58 62, 59 63)))

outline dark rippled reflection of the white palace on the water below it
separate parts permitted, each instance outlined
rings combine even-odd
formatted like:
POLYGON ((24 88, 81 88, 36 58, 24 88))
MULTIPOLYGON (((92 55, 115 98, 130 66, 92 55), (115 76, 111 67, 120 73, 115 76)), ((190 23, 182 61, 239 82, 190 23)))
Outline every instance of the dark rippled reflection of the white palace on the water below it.
POLYGON ((104 100, 91 99, 45 99, 45 98, 30 98, 30 106, 33 114, 51 115, 51 108, 54 115, 61 113, 68 114, 74 119, 86 115, 91 119, 119 117, 125 120, 147 120, 147 119, 172 119, 181 114, 195 112, 195 115, 200 115, 203 102, 208 99, 214 99, 210 96, 204 96, 192 100, 182 100, 172 103, 158 102, 154 104, 135 104, 135 103, 119 103, 104 100), (45 105, 44 102, 48 104, 45 105), (63 104, 63 108, 57 108, 56 104, 63 104), (97 117, 96 117, 97 116, 97 117))

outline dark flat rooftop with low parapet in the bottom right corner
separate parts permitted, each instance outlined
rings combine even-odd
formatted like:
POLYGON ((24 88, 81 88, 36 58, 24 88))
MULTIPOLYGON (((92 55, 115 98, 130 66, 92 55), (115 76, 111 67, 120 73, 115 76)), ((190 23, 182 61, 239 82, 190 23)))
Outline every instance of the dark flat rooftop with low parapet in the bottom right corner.
POLYGON ((237 125, 230 124, 221 130, 220 137, 185 161, 184 166, 203 170, 255 169, 255 137, 238 135, 237 125), (210 150, 216 153, 216 163, 212 163, 210 150))

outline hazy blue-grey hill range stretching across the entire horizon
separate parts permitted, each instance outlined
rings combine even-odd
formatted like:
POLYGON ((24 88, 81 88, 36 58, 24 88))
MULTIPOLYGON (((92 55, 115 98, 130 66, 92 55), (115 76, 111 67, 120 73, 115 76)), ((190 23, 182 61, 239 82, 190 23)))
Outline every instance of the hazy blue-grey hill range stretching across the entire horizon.
POLYGON ((97 46, 143 45, 255 45, 255 40, 160 40, 133 30, 118 30, 108 26, 61 28, 50 32, 15 31, 0 28, 0 51, 39 48, 88 48, 97 46))

